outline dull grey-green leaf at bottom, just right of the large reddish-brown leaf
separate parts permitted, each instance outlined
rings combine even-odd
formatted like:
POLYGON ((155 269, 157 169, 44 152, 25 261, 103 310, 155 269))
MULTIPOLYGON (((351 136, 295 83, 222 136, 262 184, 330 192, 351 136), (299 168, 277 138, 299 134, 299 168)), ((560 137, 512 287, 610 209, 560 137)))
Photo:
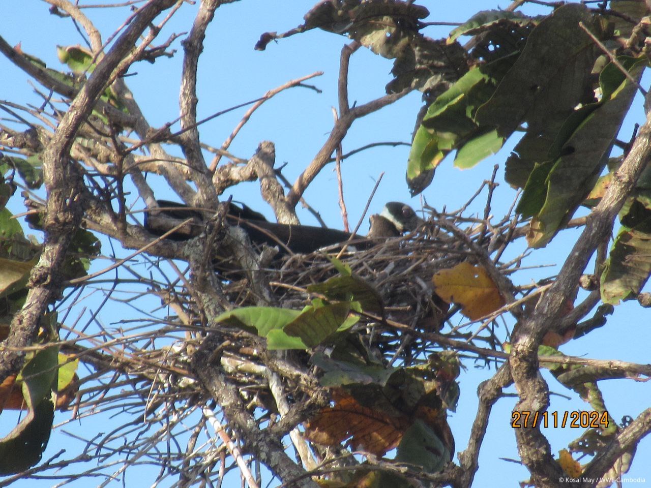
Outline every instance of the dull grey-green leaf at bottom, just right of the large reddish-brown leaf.
POLYGON ((449 450, 434 430, 420 419, 405 431, 396 453, 396 461, 418 465, 428 473, 440 471, 449 459, 449 450))

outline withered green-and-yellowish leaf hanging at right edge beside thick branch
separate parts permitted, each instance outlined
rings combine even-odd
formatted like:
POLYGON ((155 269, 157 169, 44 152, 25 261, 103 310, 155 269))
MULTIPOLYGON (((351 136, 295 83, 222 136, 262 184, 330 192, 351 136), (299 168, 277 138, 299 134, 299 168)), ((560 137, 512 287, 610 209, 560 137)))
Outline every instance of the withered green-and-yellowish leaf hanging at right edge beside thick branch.
POLYGON ((601 278, 603 303, 635 297, 651 273, 651 210, 635 199, 621 217, 601 278))

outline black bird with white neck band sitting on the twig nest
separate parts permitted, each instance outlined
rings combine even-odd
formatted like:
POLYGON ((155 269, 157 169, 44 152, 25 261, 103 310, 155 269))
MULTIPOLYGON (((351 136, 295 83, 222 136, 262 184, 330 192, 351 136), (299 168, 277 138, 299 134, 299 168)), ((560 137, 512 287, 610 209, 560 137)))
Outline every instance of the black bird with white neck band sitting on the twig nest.
MULTIPOLYGON (((145 228, 152 234, 161 236, 167 232, 171 228, 170 218, 177 219, 178 223, 188 218, 193 220, 187 226, 168 236, 169 239, 190 239, 198 236, 204 228, 203 215, 200 211, 169 200, 158 200, 158 205, 161 208, 160 211, 145 213, 145 228)), ((231 225, 242 227, 254 244, 277 246, 283 254, 286 254, 287 251, 309 254, 322 247, 349 241, 352 236, 343 230, 269 222, 261 213, 251 210, 244 204, 238 206, 232 202, 229 203, 227 220, 231 225)), ((356 247, 367 247, 372 245, 368 241, 369 238, 399 236, 402 232, 415 230, 421 223, 422 219, 417 217, 408 205, 389 202, 381 215, 371 216, 371 229, 368 236, 355 236, 351 243, 356 247)))

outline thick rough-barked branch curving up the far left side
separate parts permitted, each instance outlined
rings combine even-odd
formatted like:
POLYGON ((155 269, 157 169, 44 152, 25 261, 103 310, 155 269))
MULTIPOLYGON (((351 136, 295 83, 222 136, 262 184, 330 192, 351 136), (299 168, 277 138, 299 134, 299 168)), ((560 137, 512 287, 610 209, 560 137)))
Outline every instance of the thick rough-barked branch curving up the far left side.
MULTIPOLYGON (((40 318, 49 301, 59 292, 61 267, 74 231, 83 217, 81 195, 83 182, 68 154, 77 129, 102 91, 106 80, 128 55, 139 36, 158 14, 173 5, 174 0, 152 0, 139 10, 131 25, 116 40, 107 55, 98 63, 88 81, 63 116, 48 148, 43 153, 43 177, 48 190, 44 230, 46 239, 38 264, 29 277, 30 290, 25 305, 14 315, 7 346, 29 346, 36 336, 40 318)), ((4 351, 0 355, 0 380, 18 372, 24 354, 4 351)))

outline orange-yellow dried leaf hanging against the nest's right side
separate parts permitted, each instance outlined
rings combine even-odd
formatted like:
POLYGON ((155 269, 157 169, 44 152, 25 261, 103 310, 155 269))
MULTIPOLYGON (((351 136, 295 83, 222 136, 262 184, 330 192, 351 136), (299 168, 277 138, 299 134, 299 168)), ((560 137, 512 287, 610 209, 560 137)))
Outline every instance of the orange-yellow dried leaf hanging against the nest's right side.
POLYGON ((505 304, 495 282, 477 265, 460 263, 450 269, 441 269, 432 282, 439 297, 462 306, 461 313, 471 320, 495 312, 505 304))

